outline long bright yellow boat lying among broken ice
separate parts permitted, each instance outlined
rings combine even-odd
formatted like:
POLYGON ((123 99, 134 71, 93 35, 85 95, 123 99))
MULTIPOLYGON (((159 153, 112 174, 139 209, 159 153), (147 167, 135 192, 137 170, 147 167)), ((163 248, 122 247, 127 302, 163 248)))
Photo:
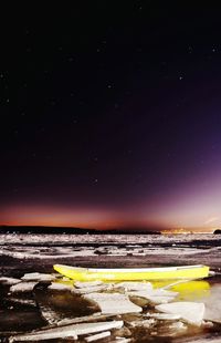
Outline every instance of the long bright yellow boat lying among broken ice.
POLYGON ((55 264, 54 270, 64 277, 78 281, 190 280, 203 279, 209 276, 209 267, 207 266, 96 269, 55 264))

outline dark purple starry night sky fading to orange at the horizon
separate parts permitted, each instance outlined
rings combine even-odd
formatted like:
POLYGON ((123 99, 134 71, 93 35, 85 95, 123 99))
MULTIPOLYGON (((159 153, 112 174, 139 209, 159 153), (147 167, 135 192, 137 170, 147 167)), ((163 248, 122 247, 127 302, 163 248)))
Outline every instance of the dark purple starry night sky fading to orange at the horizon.
POLYGON ((14 14, 0 225, 220 228, 221 6, 72 1, 14 14))

